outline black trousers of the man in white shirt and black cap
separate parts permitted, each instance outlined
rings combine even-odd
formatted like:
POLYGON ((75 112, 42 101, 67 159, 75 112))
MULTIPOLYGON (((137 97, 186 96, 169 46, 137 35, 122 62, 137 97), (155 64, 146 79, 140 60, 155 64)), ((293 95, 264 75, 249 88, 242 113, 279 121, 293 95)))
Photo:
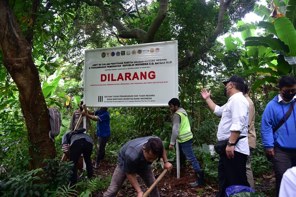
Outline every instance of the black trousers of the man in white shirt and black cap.
POLYGON ((247 155, 234 151, 234 158, 220 155, 218 163, 219 192, 216 197, 224 197, 225 190, 231 185, 250 187, 246 174, 247 155))

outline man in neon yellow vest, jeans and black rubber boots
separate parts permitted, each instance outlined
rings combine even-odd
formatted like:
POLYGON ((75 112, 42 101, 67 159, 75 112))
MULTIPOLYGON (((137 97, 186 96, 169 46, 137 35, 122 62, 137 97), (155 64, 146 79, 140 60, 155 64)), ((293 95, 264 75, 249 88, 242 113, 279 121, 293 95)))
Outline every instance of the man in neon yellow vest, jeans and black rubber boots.
POLYGON ((194 183, 189 183, 189 185, 192 187, 204 185, 204 170, 200 169, 200 165, 198 164, 191 145, 193 136, 187 113, 183 108, 180 108, 180 101, 177 98, 172 98, 168 102, 168 105, 170 106, 171 114, 173 114, 173 132, 170 139, 169 150, 174 149, 176 140, 178 140, 180 145, 180 158, 182 155, 185 155, 195 173, 196 181, 194 183))

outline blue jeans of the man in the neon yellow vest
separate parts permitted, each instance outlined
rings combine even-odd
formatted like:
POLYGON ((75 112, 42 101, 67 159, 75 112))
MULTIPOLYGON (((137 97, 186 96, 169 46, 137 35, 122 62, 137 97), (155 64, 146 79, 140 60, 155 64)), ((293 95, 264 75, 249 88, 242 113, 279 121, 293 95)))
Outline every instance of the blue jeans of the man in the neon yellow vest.
POLYGON ((191 163, 193 170, 200 170, 200 165, 198 164, 198 161, 194 155, 193 149, 192 149, 192 138, 188 141, 179 143, 179 149, 180 149, 180 158, 182 156, 186 157, 186 159, 191 163))

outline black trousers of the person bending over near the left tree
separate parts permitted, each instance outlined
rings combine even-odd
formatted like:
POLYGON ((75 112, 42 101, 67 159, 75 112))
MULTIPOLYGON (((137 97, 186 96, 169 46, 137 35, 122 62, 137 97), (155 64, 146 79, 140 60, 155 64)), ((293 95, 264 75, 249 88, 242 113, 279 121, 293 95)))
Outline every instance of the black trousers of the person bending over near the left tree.
POLYGON ((84 138, 73 141, 73 144, 70 146, 69 157, 70 161, 73 161, 74 163, 74 167, 72 170, 73 174, 70 179, 72 184, 77 182, 77 165, 81 154, 83 154, 83 159, 86 164, 87 172, 93 171, 93 166, 91 163, 92 148, 93 145, 90 142, 86 141, 84 138))

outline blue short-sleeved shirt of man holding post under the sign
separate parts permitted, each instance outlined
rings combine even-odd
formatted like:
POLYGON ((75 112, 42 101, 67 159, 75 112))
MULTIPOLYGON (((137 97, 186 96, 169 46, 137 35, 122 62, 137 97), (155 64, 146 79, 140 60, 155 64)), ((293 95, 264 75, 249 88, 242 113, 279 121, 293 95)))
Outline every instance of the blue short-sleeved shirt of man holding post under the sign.
POLYGON ((110 115, 108 111, 101 112, 100 110, 94 111, 94 115, 100 118, 96 121, 96 136, 107 137, 110 136, 110 115))

